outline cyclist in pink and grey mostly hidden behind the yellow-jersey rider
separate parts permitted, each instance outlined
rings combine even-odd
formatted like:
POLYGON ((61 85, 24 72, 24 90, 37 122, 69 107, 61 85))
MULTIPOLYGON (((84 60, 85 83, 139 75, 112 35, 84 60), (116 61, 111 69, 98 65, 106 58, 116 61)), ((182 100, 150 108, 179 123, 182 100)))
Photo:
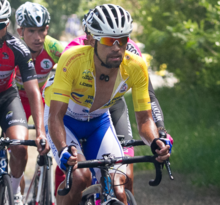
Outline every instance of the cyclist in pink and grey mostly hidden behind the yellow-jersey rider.
MULTIPOLYGON (((80 36, 75 38, 73 41, 71 41, 67 47, 65 48, 64 52, 71 48, 72 46, 78 46, 78 45, 90 45, 92 36, 88 32, 88 29, 86 27, 86 18, 89 15, 89 13, 92 10, 90 10, 83 18, 83 29, 86 35, 80 36)), ((141 55, 141 51, 136 45, 134 41, 129 39, 127 43, 126 50, 138 55, 141 55)), ((149 95, 150 95, 150 100, 151 100, 151 109, 152 109, 152 116, 154 119, 154 122, 156 123, 156 126, 158 130, 164 130, 164 117, 163 117, 163 112, 161 110, 160 104, 156 98, 153 86, 151 84, 150 78, 149 78, 149 95)), ((112 118, 112 122, 116 131, 117 135, 124 136, 125 140, 131 140, 132 137, 132 130, 130 126, 130 121, 129 121, 129 116, 128 116, 128 109, 126 102, 124 100, 124 97, 118 100, 110 109, 110 115, 112 118)), ((170 139, 171 136, 167 134, 170 139)), ((134 148, 133 147, 125 147, 124 149, 124 154, 127 156, 134 156, 134 148)), ((129 164, 126 168, 126 175, 129 177, 128 183, 126 183, 125 188, 129 189, 133 194, 133 164, 129 164)), ((59 166, 56 167, 56 172, 55 172, 55 194, 57 191, 57 188, 59 184, 64 181, 65 179, 65 174, 63 173, 62 170, 60 170, 59 166)))

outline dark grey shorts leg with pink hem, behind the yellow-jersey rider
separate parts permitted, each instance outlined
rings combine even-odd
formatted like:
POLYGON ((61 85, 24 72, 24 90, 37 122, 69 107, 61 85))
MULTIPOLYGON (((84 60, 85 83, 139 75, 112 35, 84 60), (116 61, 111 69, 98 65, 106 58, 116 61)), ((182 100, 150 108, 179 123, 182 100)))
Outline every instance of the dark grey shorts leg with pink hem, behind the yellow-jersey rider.
MULTIPOLYGON (((124 97, 110 107, 109 111, 117 136, 123 136, 124 140, 133 139, 128 108, 124 97)), ((134 147, 124 147, 123 150, 125 155, 134 156, 134 147)))

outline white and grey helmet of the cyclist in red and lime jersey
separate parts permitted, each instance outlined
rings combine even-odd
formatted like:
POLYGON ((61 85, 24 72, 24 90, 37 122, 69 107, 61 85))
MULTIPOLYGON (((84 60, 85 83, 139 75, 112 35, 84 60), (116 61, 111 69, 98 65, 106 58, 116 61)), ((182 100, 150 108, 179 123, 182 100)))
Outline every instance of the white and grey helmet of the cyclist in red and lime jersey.
POLYGON ((41 27, 50 23, 50 14, 44 6, 26 2, 17 9, 15 19, 20 27, 41 27))

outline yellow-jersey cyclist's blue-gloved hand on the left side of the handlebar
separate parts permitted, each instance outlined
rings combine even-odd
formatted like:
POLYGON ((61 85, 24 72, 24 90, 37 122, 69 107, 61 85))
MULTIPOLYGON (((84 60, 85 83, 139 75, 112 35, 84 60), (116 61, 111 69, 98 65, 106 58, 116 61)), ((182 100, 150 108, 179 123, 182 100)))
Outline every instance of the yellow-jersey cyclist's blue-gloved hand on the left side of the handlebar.
POLYGON ((77 150, 74 146, 63 148, 59 152, 60 168, 64 171, 67 170, 67 166, 73 166, 73 170, 77 168, 77 150))

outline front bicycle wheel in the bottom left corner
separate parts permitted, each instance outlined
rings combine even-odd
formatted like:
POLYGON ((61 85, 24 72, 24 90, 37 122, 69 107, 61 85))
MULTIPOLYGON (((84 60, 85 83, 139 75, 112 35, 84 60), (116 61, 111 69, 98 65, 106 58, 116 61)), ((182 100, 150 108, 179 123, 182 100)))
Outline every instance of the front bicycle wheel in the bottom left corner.
POLYGON ((0 179, 0 204, 14 205, 14 196, 9 175, 3 175, 0 179))

